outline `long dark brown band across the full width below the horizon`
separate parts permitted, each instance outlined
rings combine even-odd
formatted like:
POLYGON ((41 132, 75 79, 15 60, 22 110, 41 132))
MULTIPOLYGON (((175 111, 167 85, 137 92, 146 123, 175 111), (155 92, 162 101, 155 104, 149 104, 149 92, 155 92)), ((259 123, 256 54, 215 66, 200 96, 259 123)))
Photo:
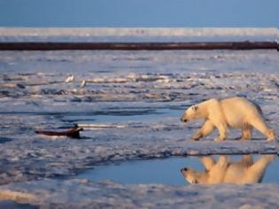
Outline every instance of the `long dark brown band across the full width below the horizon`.
POLYGON ((0 50, 279 50, 275 42, 0 43, 0 50))

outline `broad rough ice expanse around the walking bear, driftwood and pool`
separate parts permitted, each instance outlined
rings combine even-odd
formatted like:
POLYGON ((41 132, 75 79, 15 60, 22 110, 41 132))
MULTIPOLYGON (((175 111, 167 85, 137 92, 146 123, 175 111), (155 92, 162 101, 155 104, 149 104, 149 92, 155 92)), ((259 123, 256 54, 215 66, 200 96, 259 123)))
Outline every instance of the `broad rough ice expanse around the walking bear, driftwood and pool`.
POLYGON ((257 131, 251 142, 236 142, 240 135, 236 130, 223 143, 212 141, 217 133, 190 142, 201 121, 182 124, 179 119, 190 104, 240 95, 260 104, 267 123, 278 133, 278 61, 274 50, 1 51, 0 182, 5 185, 0 189, 32 193, 40 198, 21 202, 34 205, 182 207, 192 201, 197 208, 206 202, 202 197, 213 197, 209 207, 223 204, 222 198, 232 207, 275 206, 272 197, 278 194, 277 185, 224 185, 213 190, 71 178, 116 161, 277 154, 278 143, 264 142, 257 131), (65 82, 71 74, 74 81, 65 82), (85 87, 81 87, 83 80, 85 87), (81 140, 35 135, 38 129, 60 131, 74 124, 84 127, 81 140), (238 204, 243 193, 247 201, 238 204), (262 201, 263 196, 271 199, 262 201))

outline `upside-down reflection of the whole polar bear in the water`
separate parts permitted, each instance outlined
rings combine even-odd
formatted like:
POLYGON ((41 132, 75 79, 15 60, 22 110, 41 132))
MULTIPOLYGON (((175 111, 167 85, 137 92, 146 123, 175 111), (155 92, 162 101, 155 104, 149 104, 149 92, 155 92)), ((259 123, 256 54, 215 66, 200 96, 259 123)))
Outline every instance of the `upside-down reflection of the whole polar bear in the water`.
POLYGON ((216 183, 257 183, 261 182, 267 166, 275 159, 273 155, 261 156, 253 161, 251 155, 242 157, 233 162, 228 156, 220 156, 216 162, 211 157, 202 157, 204 171, 184 167, 181 172, 187 182, 191 184, 216 184, 216 183))

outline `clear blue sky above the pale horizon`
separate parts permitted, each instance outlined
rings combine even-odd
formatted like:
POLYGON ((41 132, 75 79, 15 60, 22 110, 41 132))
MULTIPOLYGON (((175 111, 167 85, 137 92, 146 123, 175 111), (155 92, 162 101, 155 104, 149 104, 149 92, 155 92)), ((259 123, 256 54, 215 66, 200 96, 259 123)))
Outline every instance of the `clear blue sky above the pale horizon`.
POLYGON ((0 27, 279 27, 279 0, 0 0, 0 27))

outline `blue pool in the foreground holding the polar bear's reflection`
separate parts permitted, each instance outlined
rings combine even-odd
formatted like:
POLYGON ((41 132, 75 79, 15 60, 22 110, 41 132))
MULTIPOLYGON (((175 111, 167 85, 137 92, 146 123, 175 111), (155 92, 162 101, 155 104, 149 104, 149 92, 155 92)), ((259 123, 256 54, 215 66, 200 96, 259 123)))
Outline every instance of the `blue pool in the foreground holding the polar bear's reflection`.
POLYGON ((279 160, 273 155, 229 155, 144 159, 94 166, 79 174, 92 182, 123 184, 279 183, 279 160), (206 168, 205 168, 206 167, 206 168))

